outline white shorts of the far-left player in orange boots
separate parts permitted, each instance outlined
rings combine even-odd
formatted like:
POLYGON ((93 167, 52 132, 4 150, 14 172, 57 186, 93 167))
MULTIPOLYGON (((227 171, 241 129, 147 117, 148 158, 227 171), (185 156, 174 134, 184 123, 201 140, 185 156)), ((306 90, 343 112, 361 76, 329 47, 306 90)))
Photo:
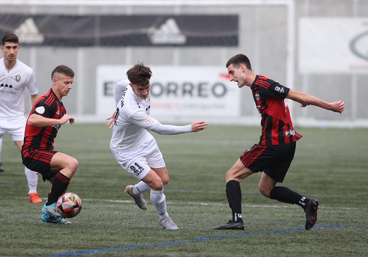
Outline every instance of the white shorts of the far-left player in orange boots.
POLYGON ((23 141, 26 122, 24 116, 15 119, 0 119, 0 138, 3 137, 3 134, 9 133, 13 141, 23 141))

